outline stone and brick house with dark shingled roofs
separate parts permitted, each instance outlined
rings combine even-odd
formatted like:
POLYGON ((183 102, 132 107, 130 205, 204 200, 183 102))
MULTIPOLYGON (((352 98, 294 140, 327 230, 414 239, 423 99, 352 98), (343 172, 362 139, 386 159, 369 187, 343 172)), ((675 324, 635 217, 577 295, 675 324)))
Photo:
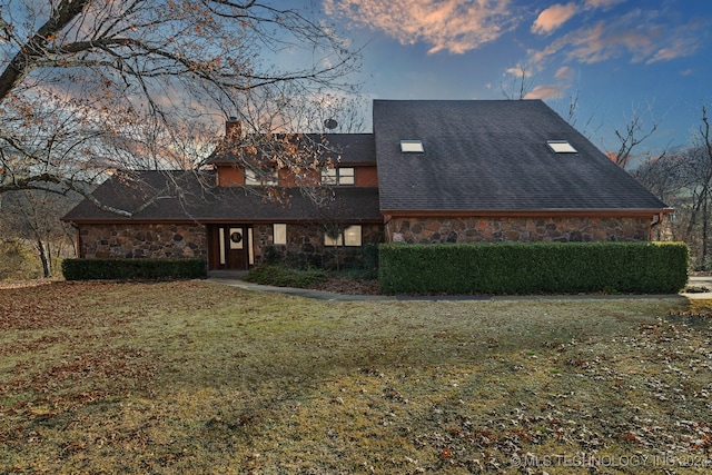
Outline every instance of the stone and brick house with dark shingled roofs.
POLYGON ((211 170, 117 175, 95 197, 130 217, 85 200, 63 219, 82 258, 246 269, 348 263, 378 243, 649 240, 672 211, 541 100, 375 100, 373 130, 298 136, 330 165, 295 177, 274 150, 271 166, 238 160, 228 120, 211 170))

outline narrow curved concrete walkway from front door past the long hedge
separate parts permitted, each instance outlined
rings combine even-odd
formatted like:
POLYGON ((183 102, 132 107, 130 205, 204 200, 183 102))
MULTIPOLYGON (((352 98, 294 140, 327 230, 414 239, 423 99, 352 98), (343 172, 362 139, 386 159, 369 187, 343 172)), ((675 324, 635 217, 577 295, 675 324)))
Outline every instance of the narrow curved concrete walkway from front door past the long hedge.
MULTIPOLYGON (((375 301, 375 300, 421 300, 421 301, 445 301, 445 300, 571 300, 571 299, 624 299, 624 298, 660 298, 675 297, 676 295, 532 295, 532 296, 478 296, 478 295, 435 295, 435 296, 393 296, 393 295, 349 295, 336 294, 325 290, 314 290, 293 287, 276 287, 248 283, 241 278, 247 273, 241 271, 210 271, 208 279, 216 284, 238 287, 250 291, 269 291, 275 294, 294 295, 297 297, 313 298, 327 301, 375 301)), ((712 277, 690 277, 688 287, 706 289, 706 291, 681 293, 679 296, 694 299, 712 299, 712 277)))

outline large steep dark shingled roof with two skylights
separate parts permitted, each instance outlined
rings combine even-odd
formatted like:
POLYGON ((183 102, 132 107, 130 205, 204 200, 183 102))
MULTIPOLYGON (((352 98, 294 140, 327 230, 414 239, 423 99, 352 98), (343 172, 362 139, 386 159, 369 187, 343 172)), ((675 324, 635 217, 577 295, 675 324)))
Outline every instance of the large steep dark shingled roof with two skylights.
POLYGON ((384 212, 668 209, 541 100, 375 100, 373 117, 384 212))

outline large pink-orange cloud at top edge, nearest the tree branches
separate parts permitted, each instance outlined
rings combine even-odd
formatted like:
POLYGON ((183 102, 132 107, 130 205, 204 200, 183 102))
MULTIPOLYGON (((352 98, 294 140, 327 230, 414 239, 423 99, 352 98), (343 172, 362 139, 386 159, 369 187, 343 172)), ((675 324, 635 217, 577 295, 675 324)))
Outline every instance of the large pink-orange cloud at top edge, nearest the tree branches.
POLYGON ((324 0, 324 11, 356 27, 379 30, 402 44, 418 41, 428 52, 463 53, 513 29, 510 0, 324 0))

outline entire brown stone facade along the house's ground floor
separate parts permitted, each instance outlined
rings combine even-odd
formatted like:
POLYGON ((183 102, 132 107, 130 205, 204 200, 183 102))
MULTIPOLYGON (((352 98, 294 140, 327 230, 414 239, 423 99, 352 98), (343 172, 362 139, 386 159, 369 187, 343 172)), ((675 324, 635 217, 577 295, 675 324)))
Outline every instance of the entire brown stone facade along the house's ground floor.
MULTIPOLYGON (((394 218, 384 228, 362 226, 363 246, 326 246, 318 224, 287 225, 287 244, 275 245, 273 225, 253 226, 254 264, 286 263, 324 268, 363 264, 368 245, 393 243, 640 241, 650 239, 647 218, 394 218)), ((208 236, 198 224, 82 225, 82 258, 208 258, 208 236)), ((368 263, 367 263, 368 264, 368 263)), ((375 263, 374 263, 375 264, 375 263)))

